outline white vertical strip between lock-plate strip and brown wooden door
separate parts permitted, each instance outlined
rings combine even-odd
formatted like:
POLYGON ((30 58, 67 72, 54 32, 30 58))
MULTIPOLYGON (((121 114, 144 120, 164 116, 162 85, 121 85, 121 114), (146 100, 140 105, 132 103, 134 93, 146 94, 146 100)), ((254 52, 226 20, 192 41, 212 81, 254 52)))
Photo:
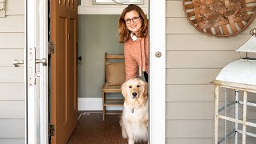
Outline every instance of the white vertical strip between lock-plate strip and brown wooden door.
MULTIPOLYGON (((48 60, 48 0, 40 0, 39 2, 39 58, 46 58, 48 60)), ((48 98, 48 66, 40 66, 40 143, 48 144, 48 130, 49 130, 49 98, 48 98)))

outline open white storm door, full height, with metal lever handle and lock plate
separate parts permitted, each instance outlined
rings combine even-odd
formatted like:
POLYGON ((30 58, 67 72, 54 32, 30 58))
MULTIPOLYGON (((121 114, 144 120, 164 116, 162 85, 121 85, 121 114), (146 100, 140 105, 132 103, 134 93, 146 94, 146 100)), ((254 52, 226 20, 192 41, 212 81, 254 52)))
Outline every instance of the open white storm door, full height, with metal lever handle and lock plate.
POLYGON ((26 1, 26 143, 48 143, 48 1, 26 1))

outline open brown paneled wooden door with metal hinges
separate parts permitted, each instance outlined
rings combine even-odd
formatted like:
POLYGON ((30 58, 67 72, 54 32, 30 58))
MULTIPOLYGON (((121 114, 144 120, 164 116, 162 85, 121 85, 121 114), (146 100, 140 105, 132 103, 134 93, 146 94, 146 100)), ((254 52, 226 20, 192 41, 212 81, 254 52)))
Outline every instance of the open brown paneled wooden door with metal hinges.
POLYGON ((50 2, 51 54, 50 122, 54 125, 52 144, 64 144, 77 125, 77 0, 50 2))

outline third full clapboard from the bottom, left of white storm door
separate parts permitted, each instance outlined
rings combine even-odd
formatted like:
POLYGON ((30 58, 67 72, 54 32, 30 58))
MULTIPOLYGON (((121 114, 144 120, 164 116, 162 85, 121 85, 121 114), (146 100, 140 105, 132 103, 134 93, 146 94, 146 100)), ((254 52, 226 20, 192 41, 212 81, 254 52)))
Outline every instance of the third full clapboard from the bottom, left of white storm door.
POLYGON ((25 88, 23 82, 0 83, 0 101, 21 101, 25 100, 25 88))

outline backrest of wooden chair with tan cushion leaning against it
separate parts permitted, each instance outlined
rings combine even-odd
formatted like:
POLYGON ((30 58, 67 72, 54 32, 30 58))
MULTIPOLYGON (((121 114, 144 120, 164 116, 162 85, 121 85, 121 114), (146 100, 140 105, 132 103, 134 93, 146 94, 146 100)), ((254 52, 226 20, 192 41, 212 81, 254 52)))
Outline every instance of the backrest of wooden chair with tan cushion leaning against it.
POLYGON ((126 80, 124 55, 105 53, 106 86, 122 85, 126 80))

